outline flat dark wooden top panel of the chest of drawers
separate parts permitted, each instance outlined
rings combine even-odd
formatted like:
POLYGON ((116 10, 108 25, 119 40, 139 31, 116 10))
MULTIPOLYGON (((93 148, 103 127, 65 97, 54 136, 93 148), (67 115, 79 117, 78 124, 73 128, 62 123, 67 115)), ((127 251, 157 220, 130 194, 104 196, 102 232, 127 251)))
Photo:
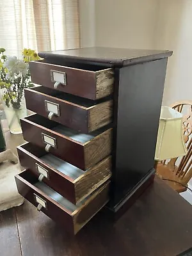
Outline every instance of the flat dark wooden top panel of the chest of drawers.
POLYGON ((124 67, 172 56, 172 51, 87 47, 62 51, 40 52, 42 58, 62 58, 65 61, 100 63, 108 67, 124 67))

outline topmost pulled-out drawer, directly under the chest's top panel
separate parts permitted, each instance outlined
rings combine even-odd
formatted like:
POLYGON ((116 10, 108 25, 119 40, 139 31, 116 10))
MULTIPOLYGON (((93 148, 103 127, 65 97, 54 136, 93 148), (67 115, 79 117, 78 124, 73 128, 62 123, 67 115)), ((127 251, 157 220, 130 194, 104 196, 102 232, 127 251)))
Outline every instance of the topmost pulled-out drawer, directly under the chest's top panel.
POLYGON ((63 67, 44 61, 29 63, 31 80, 35 84, 92 100, 106 97, 113 92, 114 71, 112 68, 90 71, 63 67))

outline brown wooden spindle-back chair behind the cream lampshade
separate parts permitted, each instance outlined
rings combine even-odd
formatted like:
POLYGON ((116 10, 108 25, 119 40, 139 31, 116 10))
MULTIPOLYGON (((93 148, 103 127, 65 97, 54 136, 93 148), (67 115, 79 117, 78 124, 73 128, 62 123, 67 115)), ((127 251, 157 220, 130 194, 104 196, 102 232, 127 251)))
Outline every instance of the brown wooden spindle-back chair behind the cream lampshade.
POLYGON ((187 190, 186 187, 192 177, 192 101, 176 102, 171 107, 184 115, 182 123, 188 153, 184 157, 159 162, 156 173, 161 179, 165 179, 171 188, 181 193, 187 190))

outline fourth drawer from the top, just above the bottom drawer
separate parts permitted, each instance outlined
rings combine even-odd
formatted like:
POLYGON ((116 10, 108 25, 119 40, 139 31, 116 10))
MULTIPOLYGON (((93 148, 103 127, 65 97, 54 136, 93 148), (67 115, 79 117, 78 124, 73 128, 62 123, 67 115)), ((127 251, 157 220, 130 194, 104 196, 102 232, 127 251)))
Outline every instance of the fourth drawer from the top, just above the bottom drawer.
POLYGON ((24 169, 31 170, 40 182, 44 182, 73 204, 83 200, 111 177, 111 157, 83 172, 76 170, 75 166, 68 167, 65 161, 47 154, 42 148, 31 143, 17 147, 17 152, 24 169), (61 170, 61 167, 62 172, 57 170, 56 164, 63 166, 64 170, 61 170))

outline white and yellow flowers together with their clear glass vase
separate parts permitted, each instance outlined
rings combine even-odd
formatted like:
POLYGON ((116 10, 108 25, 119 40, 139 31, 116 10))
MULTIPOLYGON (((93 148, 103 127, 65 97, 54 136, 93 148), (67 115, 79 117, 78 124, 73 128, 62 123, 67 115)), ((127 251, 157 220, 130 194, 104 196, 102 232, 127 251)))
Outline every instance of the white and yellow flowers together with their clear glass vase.
POLYGON ((0 48, 0 57, 0 88, 4 113, 10 132, 22 133, 20 118, 27 115, 24 88, 33 86, 28 62, 40 58, 31 49, 22 51, 22 59, 6 56, 4 48, 0 48))

